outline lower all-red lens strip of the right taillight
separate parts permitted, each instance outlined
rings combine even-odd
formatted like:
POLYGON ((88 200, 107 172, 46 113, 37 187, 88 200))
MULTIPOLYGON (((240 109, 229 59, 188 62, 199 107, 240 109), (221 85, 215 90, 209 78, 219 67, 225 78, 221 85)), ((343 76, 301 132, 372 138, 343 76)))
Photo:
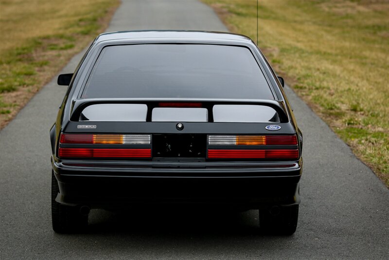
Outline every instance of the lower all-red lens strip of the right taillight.
POLYGON ((208 149, 210 159, 298 159, 298 149, 208 149))

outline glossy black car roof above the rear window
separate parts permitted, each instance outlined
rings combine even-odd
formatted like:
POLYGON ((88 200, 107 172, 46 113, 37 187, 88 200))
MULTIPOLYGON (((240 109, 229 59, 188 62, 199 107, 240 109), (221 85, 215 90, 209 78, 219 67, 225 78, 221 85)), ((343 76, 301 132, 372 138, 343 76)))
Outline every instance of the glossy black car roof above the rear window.
POLYGON ((111 40, 185 40, 185 41, 231 41, 231 42, 252 42, 251 39, 244 35, 231 34, 226 32, 208 32, 208 31, 167 31, 167 30, 147 30, 147 31, 122 31, 110 32, 99 35, 96 42, 111 40))

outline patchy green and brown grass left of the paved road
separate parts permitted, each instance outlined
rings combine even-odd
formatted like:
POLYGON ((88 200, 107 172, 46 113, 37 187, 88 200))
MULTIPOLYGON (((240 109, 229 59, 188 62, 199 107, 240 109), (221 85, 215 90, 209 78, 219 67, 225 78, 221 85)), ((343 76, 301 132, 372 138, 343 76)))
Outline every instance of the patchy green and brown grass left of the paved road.
POLYGON ((104 31, 118 0, 0 0, 0 129, 104 31))

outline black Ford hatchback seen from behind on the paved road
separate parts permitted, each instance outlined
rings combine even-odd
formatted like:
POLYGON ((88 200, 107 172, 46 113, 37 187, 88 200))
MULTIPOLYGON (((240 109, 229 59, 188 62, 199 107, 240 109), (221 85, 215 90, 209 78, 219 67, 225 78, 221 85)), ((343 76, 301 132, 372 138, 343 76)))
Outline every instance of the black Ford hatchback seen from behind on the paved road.
POLYGON ((85 229, 92 208, 168 205, 259 209, 261 230, 295 232, 302 135, 248 37, 106 33, 58 84, 55 232, 85 229))

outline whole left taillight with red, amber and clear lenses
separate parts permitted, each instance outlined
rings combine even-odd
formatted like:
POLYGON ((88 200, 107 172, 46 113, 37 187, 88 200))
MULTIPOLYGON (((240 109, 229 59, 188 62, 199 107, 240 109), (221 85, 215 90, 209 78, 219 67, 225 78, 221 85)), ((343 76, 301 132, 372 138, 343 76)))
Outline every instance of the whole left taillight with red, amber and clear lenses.
POLYGON ((151 158, 150 134, 61 134, 58 157, 60 158, 151 158), (88 147, 82 147, 82 145, 88 147), (129 148, 94 148, 90 145, 133 145, 129 148), (66 145, 66 147, 62 147, 66 145))

